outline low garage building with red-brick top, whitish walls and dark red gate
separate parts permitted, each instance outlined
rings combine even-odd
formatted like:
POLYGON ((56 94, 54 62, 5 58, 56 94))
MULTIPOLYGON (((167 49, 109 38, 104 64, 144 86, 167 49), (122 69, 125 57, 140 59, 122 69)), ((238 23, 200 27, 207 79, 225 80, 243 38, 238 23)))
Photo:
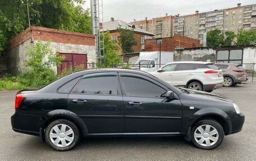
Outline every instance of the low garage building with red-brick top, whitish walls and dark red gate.
POLYGON ((63 68, 70 67, 72 64, 83 64, 88 68, 92 65, 87 65, 87 62, 95 62, 94 35, 31 26, 31 31, 29 28, 22 31, 7 44, 5 51, 9 73, 15 75, 26 70, 24 67, 24 62, 28 60, 26 53, 39 40, 42 43, 51 42, 50 47, 53 52, 66 57, 60 67, 53 67, 56 73, 60 73, 63 68))

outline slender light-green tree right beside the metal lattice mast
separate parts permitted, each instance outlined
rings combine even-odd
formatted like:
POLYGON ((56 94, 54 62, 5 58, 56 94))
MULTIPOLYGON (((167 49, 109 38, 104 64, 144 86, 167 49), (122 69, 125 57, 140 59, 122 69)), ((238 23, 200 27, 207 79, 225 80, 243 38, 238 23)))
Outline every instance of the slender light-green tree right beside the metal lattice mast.
POLYGON ((104 37, 104 64, 98 65, 98 67, 112 67, 112 65, 117 65, 122 62, 118 51, 121 49, 116 40, 111 39, 109 31, 106 31, 103 35, 104 37))

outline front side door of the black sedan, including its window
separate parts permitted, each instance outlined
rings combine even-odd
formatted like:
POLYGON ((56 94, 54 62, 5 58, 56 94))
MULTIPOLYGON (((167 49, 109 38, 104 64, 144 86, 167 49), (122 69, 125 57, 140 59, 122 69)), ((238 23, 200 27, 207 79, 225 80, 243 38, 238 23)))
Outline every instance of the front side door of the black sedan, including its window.
POLYGON ((157 81, 131 73, 119 73, 125 104, 126 133, 180 132, 179 99, 168 100, 167 88, 157 81))

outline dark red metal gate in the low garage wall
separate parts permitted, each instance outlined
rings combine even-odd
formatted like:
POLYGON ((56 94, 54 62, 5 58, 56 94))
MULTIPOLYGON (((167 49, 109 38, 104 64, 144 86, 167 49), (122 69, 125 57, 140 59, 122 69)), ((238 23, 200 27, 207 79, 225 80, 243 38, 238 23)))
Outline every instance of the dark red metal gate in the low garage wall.
POLYGON ((67 54, 67 53, 59 53, 58 56, 65 56, 65 60, 61 62, 61 65, 58 66, 57 72, 58 74, 65 68, 72 67, 74 69, 75 66, 83 65, 84 68, 87 68, 87 54, 67 54))

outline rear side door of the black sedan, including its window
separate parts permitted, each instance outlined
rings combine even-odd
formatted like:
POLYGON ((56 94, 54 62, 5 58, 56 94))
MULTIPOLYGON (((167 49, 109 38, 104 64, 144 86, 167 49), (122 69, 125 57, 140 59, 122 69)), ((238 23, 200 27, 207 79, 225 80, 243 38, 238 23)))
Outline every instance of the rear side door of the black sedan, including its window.
POLYGON ((89 134, 124 132, 124 102, 117 73, 83 76, 68 95, 68 111, 83 119, 89 134))

